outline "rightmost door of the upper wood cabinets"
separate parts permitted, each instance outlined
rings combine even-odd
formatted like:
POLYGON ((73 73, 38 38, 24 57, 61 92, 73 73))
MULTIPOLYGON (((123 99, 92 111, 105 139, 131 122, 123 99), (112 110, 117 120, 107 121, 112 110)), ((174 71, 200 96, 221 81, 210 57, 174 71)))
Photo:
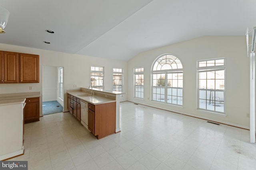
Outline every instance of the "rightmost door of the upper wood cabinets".
POLYGON ((20 82, 39 83, 39 55, 20 53, 20 82))

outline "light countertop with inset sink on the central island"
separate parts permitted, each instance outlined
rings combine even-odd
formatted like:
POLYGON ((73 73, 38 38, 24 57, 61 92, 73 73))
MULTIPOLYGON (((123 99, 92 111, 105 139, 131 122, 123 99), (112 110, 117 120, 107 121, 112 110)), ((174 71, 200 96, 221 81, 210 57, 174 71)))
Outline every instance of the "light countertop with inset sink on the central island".
POLYGON ((76 98, 79 98, 80 100, 84 100, 85 102, 89 102, 93 105, 97 105, 97 104, 105 104, 105 103, 111 103, 111 102, 116 102, 116 100, 112 100, 109 98, 104 98, 101 96, 86 96, 86 97, 81 97, 78 95, 83 95, 86 94, 85 92, 68 92, 68 94, 75 96, 76 98))

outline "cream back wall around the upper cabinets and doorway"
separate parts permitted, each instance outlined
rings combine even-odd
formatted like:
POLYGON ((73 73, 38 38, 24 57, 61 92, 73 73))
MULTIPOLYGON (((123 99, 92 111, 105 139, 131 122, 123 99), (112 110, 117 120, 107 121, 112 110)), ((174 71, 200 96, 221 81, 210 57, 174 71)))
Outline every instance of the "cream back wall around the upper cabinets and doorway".
MULTIPOLYGON (((33 49, 8 44, 0 44, 2 51, 14 51, 18 53, 37 54, 40 57, 40 83, 28 84, 0 84, 0 94, 21 93, 21 92, 41 92, 42 94, 42 66, 63 66, 64 67, 64 110, 67 110, 66 90, 74 89, 75 84, 78 88, 90 85, 90 66, 105 67, 105 89, 112 90, 113 68, 124 68, 124 77, 127 76, 127 62, 100 57, 85 55, 60 53, 41 49, 33 49), (29 90, 32 86, 32 90, 29 90)), ((124 80, 124 92, 127 92, 127 79, 124 80)), ((126 100, 126 95, 122 98, 126 100)), ((40 98, 40 115, 42 115, 42 98, 40 98)))

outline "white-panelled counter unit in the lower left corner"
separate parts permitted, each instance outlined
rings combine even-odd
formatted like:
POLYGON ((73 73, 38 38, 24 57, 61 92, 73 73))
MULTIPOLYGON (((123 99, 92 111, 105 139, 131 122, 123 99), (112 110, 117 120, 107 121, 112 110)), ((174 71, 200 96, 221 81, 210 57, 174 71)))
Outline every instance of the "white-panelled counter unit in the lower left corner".
POLYGON ((19 156, 24 152, 25 100, 26 98, 0 100, 0 160, 19 156))

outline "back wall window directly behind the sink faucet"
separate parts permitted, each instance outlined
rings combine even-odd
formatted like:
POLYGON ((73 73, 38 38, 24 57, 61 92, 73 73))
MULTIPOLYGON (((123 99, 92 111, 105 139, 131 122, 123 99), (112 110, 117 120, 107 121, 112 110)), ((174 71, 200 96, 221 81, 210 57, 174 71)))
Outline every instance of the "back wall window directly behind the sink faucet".
POLYGON ((91 66, 91 86, 104 89, 104 67, 91 66))

